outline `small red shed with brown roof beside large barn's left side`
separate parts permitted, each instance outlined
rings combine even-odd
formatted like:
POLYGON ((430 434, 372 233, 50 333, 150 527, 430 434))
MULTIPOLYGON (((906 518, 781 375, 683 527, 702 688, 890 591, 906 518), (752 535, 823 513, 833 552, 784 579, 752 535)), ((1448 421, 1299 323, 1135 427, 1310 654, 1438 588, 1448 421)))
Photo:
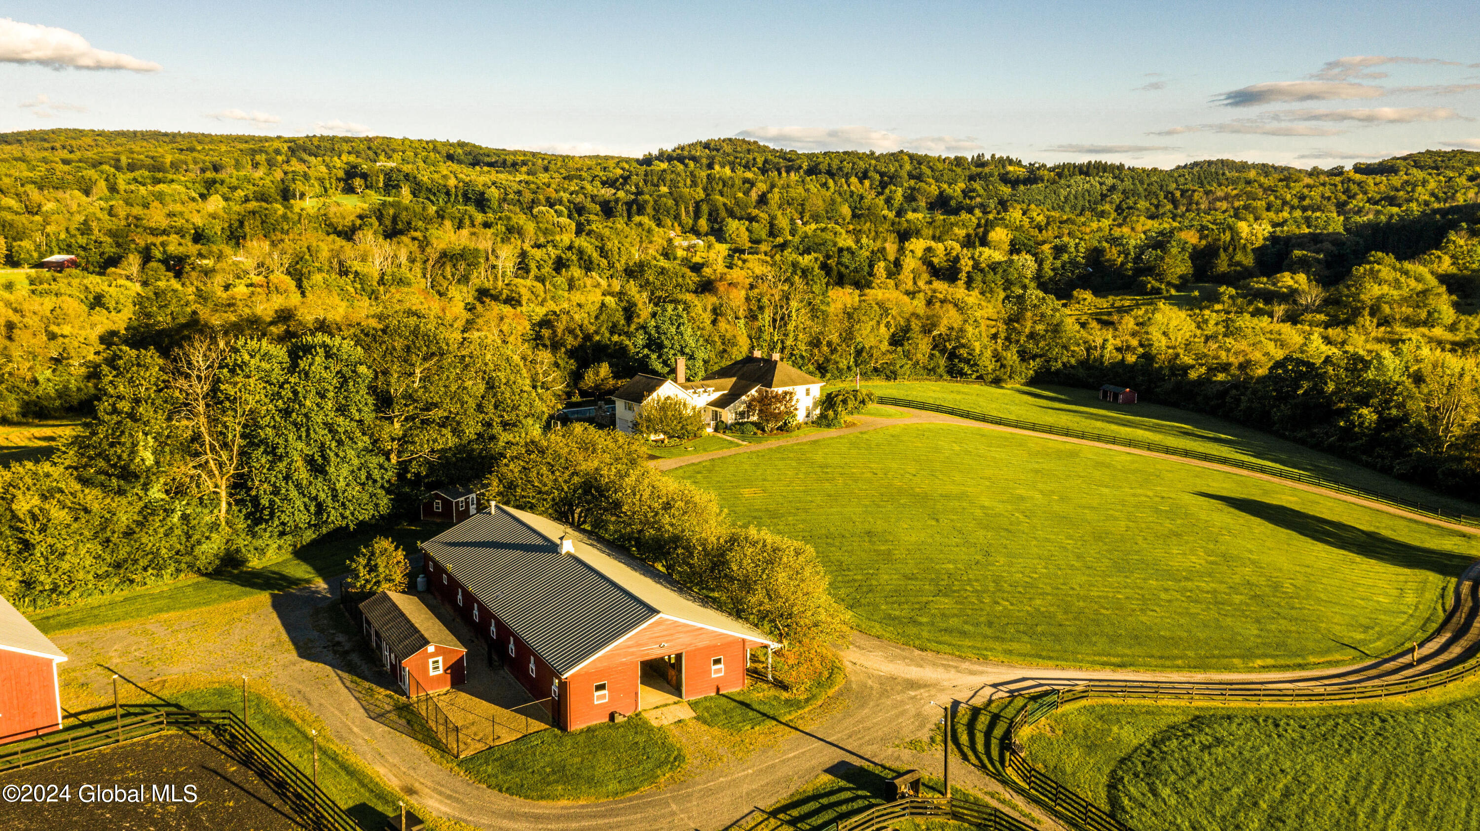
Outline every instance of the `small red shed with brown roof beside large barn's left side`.
POLYGON ((395 667, 407 695, 468 683, 468 649, 420 597, 380 591, 360 603, 360 615, 382 665, 395 667))

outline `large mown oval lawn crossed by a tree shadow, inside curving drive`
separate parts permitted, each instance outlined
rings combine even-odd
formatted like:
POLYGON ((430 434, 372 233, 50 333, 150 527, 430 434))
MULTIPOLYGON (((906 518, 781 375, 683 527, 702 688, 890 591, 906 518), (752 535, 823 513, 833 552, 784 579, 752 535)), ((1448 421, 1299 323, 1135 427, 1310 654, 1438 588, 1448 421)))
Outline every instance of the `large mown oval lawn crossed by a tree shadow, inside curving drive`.
POLYGON ((1437 627, 1468 534, 1273 482, 955 424, 691 464, 804 540, 863 631, 1024 662, 1351 664, 1437 627))

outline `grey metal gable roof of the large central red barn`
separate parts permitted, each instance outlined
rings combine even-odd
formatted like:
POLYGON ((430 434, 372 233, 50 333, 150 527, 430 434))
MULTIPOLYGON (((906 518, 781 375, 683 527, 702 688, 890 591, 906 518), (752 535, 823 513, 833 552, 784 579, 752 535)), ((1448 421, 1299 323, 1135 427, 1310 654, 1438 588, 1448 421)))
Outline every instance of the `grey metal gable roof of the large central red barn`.
POLYGON ((506 506, 422 550, 562 677, 660 617, 780 646, 611 543, 506 506), (571 554, 559 552, 562 535, 571 554))

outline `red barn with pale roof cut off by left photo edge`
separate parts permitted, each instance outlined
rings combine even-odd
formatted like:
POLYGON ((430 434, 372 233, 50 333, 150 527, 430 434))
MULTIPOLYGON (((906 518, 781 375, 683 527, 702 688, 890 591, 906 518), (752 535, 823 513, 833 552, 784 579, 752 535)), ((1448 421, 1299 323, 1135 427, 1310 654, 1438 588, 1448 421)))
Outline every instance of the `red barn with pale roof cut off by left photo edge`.
POLYGON ((0 597, 0 744, 62 727, 56 664, 67 655, 0 597))

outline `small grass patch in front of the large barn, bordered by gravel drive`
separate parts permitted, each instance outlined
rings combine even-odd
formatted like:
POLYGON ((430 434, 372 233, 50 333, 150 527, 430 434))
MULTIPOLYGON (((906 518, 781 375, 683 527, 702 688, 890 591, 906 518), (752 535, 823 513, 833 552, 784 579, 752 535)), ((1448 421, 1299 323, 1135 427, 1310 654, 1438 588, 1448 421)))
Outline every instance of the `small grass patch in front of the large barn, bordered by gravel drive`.
POLYGON ((684 750, 638 716, 576 732, 540 730, 457 763, 469 778, 540 801, 614 800, 656 785, 684 766, 684 750))

